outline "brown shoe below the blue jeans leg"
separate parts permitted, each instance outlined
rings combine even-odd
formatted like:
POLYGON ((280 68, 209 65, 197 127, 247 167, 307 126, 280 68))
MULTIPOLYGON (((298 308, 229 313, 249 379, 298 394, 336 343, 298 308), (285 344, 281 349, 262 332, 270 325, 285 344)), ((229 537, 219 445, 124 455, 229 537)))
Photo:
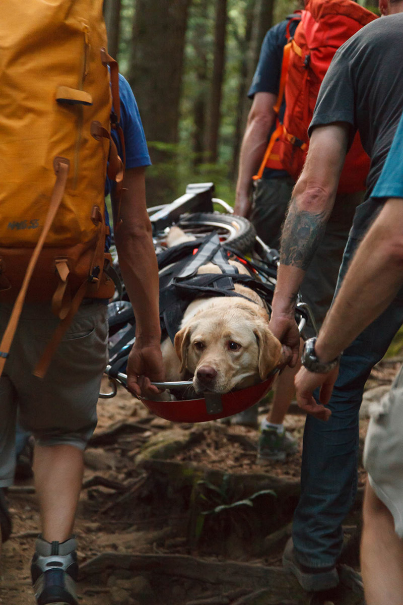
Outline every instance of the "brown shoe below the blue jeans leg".
POLYGON ((283 567, 295 575, 306 592, 320 592, 335 588, 339 583, 335 567, 306 567, 295 555, 292 538, 289 538, 283 553, 283 567))

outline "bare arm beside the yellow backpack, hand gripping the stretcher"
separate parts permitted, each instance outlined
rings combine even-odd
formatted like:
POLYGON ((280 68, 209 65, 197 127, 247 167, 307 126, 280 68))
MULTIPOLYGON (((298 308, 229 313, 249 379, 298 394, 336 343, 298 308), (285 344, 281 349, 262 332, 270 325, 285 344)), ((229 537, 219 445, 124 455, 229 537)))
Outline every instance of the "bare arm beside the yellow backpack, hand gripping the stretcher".
POLYGON ((121 224, 115 244, 127 293, 136 318, 136 341, 127 364, 127 385, 134 394, 158 392, 150 381, 164 378, 160 348, 158 265, 146 209, 145 168, 131 168, 124 177, 121 224), (142 378, 145 377, 145 378, 142 378))

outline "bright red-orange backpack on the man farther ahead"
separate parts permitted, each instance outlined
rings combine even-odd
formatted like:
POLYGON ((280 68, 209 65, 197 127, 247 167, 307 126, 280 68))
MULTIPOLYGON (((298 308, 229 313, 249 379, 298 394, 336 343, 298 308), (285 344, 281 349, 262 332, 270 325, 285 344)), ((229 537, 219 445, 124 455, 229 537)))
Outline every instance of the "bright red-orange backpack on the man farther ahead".
MULTIPOLYGON (((279 96, 274 107, 279 114, 285 96, 283 123, 277 120, 254 179, 261 178, 265 167, 272 166, 274 160, 297 180, 308 152, 308 126, 327 68, 337 48, 374 19, 373 13, 352 0, 308 0, 294 38, 283 51, 279 96)), ((369 162, 357 133, 346 155, 338 192, 363 191, 369 162)))

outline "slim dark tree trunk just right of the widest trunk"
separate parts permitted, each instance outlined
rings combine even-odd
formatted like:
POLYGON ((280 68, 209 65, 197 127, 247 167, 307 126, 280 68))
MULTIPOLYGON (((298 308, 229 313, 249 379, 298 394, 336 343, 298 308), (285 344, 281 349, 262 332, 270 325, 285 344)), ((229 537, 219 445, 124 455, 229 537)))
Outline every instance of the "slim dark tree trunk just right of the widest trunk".
POLYGON ((222 80, 225 65, 225 34, 227 31, 227 0, 216 0, 216 25, 214 32, 214 64, 211 78, 210 119, 208 123, 208 160, 218 157, 218 132, 221 121, 222 80))

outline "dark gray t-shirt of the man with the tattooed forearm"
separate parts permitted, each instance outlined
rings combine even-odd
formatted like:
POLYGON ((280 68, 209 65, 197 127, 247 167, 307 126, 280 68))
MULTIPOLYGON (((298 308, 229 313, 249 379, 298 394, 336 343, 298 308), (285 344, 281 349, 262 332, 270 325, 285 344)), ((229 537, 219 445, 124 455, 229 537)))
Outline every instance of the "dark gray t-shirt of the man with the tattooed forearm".
POLYGON ((371 158, 368 198, 382 171, 403 111, 403 13, 372 21, 340 47, 318 94, 315 126, 347 122, 371 158))

